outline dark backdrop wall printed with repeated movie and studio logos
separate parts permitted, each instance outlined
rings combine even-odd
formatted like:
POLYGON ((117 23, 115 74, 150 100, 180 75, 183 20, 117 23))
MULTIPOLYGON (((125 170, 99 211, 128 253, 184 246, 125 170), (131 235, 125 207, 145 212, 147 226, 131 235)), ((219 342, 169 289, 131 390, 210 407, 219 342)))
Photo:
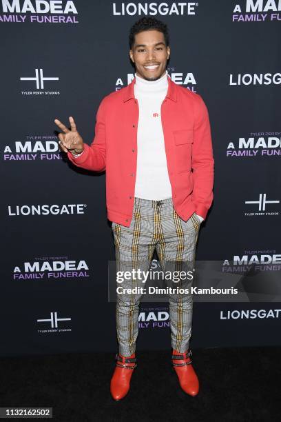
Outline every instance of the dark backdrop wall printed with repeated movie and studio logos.
MULTIPOLYGON (((254 263, 252 292, 278 288, 280 1, 1 0, 1 356, 116 352, 105 173, 59 152, 54 119, 92 143, 99 103, 134 77, 129 28, 146 14, 169 26, 171 79, 209 110, 214 203, 196 259, 239 283, 254 263)), ((274 292, 195 301, 192 347, 280 345, 274 292)), ((169 348, 168 303, 141 303, 139 327, 139 350, 169 348)))

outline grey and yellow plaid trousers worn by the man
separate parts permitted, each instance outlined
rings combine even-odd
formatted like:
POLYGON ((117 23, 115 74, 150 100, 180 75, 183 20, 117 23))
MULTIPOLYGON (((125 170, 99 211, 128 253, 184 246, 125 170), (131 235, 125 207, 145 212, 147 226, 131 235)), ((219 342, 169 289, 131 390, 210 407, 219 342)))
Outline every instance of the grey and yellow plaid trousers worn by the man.
MULTIPOLYGON (((189 269, 193 269, 199 228, 196 214, 184 221, 174 210, 171 198, 153 201, 135 197, 129 227, 112 222, 116 272, 133 268, 148 271, 155 249, 163 269, 167 268, 167 262, 171 266, 174 263, 174 270, 187 262, 191 265, 189 269)), ((125 281, 126 288, 136 286, 143 287, 143 281, 134 277, 125 281)), ((117 294, 116 331, 119 353, 123 356, 130 356, 136 350, 141 297, 142 294, 117 294)), ((191 294, 169 294, 171 347, 178 352, 189 348, 192 309, 191 294)))

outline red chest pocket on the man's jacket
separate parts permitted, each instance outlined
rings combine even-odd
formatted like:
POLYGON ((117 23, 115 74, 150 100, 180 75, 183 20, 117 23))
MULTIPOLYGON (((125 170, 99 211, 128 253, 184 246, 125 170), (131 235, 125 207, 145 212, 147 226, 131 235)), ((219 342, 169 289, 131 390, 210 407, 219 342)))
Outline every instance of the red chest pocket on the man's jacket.
POLYGON ((174 146, 176 154, 176 172, 184 173, 191 170, 193 130, 174 130, 174 146))

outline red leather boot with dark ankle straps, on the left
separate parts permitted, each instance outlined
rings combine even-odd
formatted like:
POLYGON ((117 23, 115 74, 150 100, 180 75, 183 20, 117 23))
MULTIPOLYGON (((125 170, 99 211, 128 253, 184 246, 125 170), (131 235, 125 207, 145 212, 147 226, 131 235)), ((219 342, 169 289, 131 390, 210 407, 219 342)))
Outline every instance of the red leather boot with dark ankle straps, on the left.
POLYGON ((110 381, 110 392, 114 400, 123 399, 129 391, 129 383, 136 368, 136 356, 116 354, 116 367, 110 381), (133 363, 133 365, 132 365, 133 363))

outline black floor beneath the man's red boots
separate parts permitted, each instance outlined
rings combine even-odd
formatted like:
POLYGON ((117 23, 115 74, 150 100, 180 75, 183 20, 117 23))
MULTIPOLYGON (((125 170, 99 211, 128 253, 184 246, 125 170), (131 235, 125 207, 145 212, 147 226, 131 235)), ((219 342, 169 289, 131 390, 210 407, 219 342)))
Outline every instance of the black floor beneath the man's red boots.
POLYGON ((131 390, 119 402, 109 390, 114 354, 0 358, 0 407, 52 407, 51 420, 65 422, 281 421, 280 352, 194 349, 196 397, 180 390, 169 352, 138 352, 131 390))

